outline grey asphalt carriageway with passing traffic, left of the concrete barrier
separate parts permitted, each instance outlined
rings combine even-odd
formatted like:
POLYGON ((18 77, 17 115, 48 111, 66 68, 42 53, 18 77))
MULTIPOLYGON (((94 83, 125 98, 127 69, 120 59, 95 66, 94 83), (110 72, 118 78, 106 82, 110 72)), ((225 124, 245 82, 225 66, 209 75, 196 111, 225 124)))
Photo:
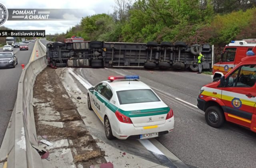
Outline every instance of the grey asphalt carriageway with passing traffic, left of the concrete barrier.
MULTIPOLYGON (((18 65, 15 68, 3 68, 0 69, 0 144, 4 138, 12 110, 17 96, 18 80, 22 72, 21 64, 27 64, 29 62, 34 42, 28 44, 28 50, 19 50, 19 48, 13 48, 13 52, 18 58, 18 65)), ((0 52, 3 49, 0 48, 0 52)))

